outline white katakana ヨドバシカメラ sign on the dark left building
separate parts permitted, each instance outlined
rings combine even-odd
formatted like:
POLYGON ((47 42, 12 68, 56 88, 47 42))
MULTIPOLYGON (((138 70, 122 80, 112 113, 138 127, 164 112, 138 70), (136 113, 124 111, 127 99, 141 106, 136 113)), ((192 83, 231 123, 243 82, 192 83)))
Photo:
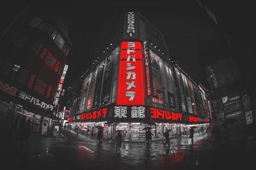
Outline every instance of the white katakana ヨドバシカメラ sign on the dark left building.
POLYGON ((47 111, 53 111, 54 109, 53 105, 47 104, 44 101, 40 101, 38 98, 28 95, 24 91, 20 91, 19 98, 26 102, 29 102, 32 105, 36 105, 37 107, 40 107, 41 109, 45 109, 47 111))

